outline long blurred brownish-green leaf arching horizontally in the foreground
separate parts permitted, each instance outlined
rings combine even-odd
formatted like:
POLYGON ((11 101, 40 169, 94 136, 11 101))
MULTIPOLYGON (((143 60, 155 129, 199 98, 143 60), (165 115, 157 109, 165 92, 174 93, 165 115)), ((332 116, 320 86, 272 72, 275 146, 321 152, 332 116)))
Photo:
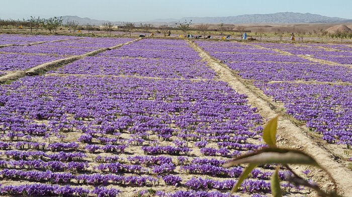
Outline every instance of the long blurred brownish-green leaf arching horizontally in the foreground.
POLYGON ((313 157, 308 154, 293 149, 268 147, 238 156, 226 162, 224 167, 231 167, 240 163, 250 164, 266 164, 266 163, 282 163, 282 164, 306 164, 320 167, 313 157))

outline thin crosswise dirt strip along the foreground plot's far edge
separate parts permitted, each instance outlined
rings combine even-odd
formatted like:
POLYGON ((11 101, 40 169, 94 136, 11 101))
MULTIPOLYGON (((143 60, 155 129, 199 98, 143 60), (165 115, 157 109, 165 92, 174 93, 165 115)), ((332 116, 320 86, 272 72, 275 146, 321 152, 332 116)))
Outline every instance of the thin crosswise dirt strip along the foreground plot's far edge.
POLYGON ((162 77, 145 77, 145 76, 136 76, 136 75, 90 75, 90 74, 58 74, 58 73, 50 73, 45 76, 58 76, 58 77, 67 77, 67 76, 76 76, 76 77, 84 77, 84 76, 93 76, 93 77, 133 77, 138 79, 161 79, 161 80, 188 80, 188 81, 219 81, 217 79, 185 79, 185 78, 162 78, 162 77))

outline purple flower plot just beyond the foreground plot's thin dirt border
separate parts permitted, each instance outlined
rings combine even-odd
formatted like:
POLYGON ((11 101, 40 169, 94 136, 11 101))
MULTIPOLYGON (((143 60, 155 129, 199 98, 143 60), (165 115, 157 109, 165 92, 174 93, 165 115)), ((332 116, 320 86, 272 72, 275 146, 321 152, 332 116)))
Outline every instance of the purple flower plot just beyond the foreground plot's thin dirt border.
MULTIPOLYGON (((131 51, 133 53, 133 51, 131 51)), ((145 51, 148 53, 148 51, 145 51)), ((58 69, 60 74, 136 75, 145 77, 212 79, 215 72, 192 60, 85 57, 58 69)))

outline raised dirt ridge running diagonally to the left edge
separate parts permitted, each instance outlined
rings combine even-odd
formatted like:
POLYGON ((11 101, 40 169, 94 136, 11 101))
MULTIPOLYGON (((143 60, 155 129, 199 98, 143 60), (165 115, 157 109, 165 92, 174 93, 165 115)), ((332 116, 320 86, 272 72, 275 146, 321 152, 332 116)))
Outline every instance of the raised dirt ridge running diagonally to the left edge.
POLYGON ((102 53, 107 50, 117 49, 119 47, 122 47, 124 45, 129 45, 129 44, 136 42, 136 41, 139 41, 139 40, 141 40, 141 38, 138 38, 133 41, 129 41, 127 43, 118 44, 118 45, 115 45, 110 48, 98 49, 98 50, 95 50, 95 51, 92 51, 92 52, 89 52, 89 53, 86 53, 83 55, 76 55, 76 56, 71 56, 71 57, 67 57, 67 58, 63 58, 63 59, 59 59, 59 60, 54 60, 51 62, 47 62, 47 63, 41 64, 41 65, 35 66, 30 69, 27 69, 25 71, 18 71, 16 73, 6 74, 6 75, 0 77, 0 84, 5 83, 6 81, 9 81, 9 80, 17 80, 21 77, 25 77, 26 75, 29 75, 29 76, 39 75, 39 74, 42 74, 43 72, 56 69, 58 67, 66 65, 66 64, 70 64, 70 63, 75 62, 75 61, 82 59, 84 57, 94 56, 94 55, 97 55, 98 53, 102 53))

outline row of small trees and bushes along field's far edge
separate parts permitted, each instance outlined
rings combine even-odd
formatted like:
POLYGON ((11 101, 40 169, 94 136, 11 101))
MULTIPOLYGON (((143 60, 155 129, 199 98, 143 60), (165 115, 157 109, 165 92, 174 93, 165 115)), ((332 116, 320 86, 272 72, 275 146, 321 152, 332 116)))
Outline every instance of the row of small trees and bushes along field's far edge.
MULTIPOLYGON (((221 36, 224 35, 225 32, 229 31, 228 27, 225 27, 225 25, 219 24, 217 26, 217 28, 215 30, 209 30, 209 25, 207 24, 200 24, 200 25, 196 25, 196 26, 192 26, 192 20, 191 21, 184 21, 184 22, 179 22, 175 24, 176 27, 169 27, 167 25, 161 25, 159 26, 159 28, 155 28, 152 24, 143 24, 140 23, 138 26, 136 26, 136 24, 131 23, 131 22, 123 22, 122 26, 120 26, 120 28, 122 29, 123 32, 126 32, 126 34, 130 34, 132 33, 133 29, 140 29, 143 32, 146 33, 150 33, 151 30, 153 29, 159 29, 160 33, 163 33, 165 35, 167 35, 170 30, 181 30, 184 34, 188 34, 188 32, 190 31, 197 31, 200 35, 203 35, 205 37, 205 35, 210 32, 210 31, 217 31, 220 33, 221 36)), ((49 18, 49 19, 42 19, 40 17, 30 17, 28 19, 23 19, 21 20, 12 20, 12 19, 0 19, 0 29, 6 28, 6 29, 12 29, 12 28, 24 28, 27 27, 28 29, 31 30, 31 32, 33 30, 38 31, 39 28, 43 28, 45 30, 48 30, 50 33, 52 31, 54 31, 56 33, 57 29, 59 27, 65 27, 67 28, 70 32, 75 32, 77 30, 86 30, 88 31, 88 33, 90 33, 91 31, 106 31, 109 32, 111 35, 111 32, 114 31, 114 26, 115 24, 111 23, 111 22, 107 22, 107 23, 103 23, 102 24, 102 29, 97 28, 91 24, 85 24, 85 25, 79 25, 78 22, 76 21, 66 21, 65 23, 63 23, 62 18, 57 18, 57 17, 53 17, 53 18, 49 18)), ((238 25, 236 26, 236 32, 239 32, 240 34, 242 34, 243 32, 245 32, 244 30, 244 26, 238 25)), ((298 34, 298 38, 302 39, 303 41, 303 37, 306 34, 303 31, 297 31, 296 32, 298 34)), ((260 37, 261 40, 261 36, 262 34, 264 34, 264 30, 262 28, 259 28, 258 31, 256 31, 254 33, 256 36, 258 35, 260 37)), ((278 29, 278 31, 275 32, 275 35, 279 36, 280 40, 283 37, 284 32, 281 31, 281 29, 278 29)), ((352 39, 352 32, 347 32, 347 31, 334 31, 332 33, 328 33, 326 30, 323 29, 318 29, 318 30, 314 30, 314 34, 317 35, 319 38, 320 37, 330 37, 332 39, 336 38, 336 39, 352 39)), ((312 35, 311 32, 309 32, 309 35, 312 35)))

